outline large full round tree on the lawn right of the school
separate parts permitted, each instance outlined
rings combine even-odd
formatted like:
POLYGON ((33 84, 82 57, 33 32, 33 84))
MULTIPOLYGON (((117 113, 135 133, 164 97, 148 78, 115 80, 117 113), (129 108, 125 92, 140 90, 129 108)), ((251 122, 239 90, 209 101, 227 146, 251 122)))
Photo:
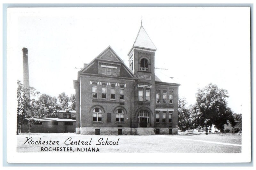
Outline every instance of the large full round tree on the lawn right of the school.
MULTIPOLYGON (((210 83, 203 89, 198 89, 196 93, 196 114, 199 114, 199 123, 206 125, 215 125, 222 132, 224 124, 232 120, 232 111, 227 107, 226 98, 228 91, 219 89, 216 85, 210 83)), ((232 122, 231 122, 232 123, 232 122)))

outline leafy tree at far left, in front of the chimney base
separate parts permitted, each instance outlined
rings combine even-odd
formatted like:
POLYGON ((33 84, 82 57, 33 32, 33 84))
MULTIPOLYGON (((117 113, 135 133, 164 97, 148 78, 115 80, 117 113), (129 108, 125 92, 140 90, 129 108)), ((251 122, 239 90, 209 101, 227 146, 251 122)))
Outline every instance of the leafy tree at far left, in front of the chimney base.
POLYGON ((28 124, 28 121, 33 121, 31 116, 34 115, 34 106, 35 99, 31 99, 32 97, 36 97, 40 94, 33 87, 24 86, 19 80, 17 81, 17 131, 16 134, 19 135, 18 130, 21 124, 28 124))

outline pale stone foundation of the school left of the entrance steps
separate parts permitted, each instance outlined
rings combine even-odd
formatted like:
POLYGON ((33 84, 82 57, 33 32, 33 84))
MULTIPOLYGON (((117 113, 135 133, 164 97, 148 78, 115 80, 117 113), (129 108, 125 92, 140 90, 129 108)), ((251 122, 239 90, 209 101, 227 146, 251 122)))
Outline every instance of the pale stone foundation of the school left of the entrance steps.
MULTIPOLYGON (((122 129, 122 135, 131 135, 131 128, 126 127, 81 127, 81 135, 95 135, 95 129, 100 129, 100 135, 118 135, 118 129, 122 129)), ((132 128, 132 135, 136 135, 136 128, 132 128)))

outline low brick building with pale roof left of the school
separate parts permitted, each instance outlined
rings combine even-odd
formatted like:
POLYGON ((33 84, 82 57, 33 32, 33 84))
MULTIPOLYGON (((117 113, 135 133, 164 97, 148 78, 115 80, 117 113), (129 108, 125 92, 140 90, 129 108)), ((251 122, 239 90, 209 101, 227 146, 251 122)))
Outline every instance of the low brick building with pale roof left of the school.
MULTIPOLYGON (((76 132, 76 111, 59 111, 57 118, 34 118, 31 133, 74 133, 76 132)), ((28 133, 28 125, 21 125, 21 133, 28 133)))

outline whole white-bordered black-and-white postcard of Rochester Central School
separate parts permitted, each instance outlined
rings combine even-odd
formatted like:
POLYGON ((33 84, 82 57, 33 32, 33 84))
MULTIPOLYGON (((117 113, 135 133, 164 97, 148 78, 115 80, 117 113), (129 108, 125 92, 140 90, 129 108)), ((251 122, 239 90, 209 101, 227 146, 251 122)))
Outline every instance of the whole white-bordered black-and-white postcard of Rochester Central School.
POLYGON ((249 7, 8 8, 8 162, 250 162, 250 24, 249 7))

